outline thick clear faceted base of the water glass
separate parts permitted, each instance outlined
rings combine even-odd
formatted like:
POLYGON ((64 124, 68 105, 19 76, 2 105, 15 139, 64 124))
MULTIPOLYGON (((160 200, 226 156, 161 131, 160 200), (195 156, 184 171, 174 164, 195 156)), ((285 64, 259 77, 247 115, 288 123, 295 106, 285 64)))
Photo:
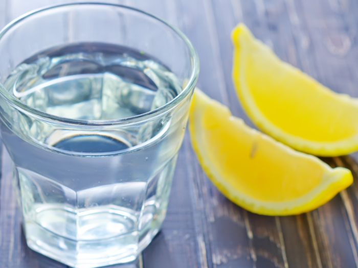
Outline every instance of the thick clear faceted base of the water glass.
POLYGON ((37 224, 26 224, 29 248, 76 268, 92 268, 135 260, 160 230, 161 223, 141 235, 136 232, 92 241, 58 236, 37 224))

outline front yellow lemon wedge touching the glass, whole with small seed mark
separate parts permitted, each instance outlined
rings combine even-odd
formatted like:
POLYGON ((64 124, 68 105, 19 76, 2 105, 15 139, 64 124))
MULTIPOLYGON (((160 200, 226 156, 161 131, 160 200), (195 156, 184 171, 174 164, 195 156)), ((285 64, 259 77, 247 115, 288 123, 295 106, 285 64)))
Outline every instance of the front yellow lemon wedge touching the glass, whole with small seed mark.
POLYGON ((331 168, 245 125, 195 89, 189 115, 194 151, 215 186, 231 201, 264 215, 299 214, 348 187, 346 168, 331 168))

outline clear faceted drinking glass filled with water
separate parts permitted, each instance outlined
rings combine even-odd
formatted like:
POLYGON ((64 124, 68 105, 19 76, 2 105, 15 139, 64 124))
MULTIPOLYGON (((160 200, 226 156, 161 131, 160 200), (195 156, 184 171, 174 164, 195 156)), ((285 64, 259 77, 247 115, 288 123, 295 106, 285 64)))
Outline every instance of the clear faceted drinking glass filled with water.
POLYGON ((109 4, 0 33, 1 135, 28 246, 74 267, 134 260, 163 223, 198 77, 189 40, 109 4))

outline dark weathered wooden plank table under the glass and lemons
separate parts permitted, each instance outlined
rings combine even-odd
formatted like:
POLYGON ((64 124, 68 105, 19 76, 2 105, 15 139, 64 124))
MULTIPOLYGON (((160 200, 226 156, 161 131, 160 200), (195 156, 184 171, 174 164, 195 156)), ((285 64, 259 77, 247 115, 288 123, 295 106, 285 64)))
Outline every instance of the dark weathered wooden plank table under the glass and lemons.
MULTIPOLYGON (((0 27, 63 0, 0 0, 0 27)), ((97 1, 98 2, 98 1, 97 1)), ((283 60, 337 92, 358 97, 356 0, 130 0, 178 26, 200 57, 197 86, 232 113, 245 116, 231 81, 230 32, 244 22, 283 60)), ((1 60, 1 58, 0 58, 1 60)), ((357 115, 358 116, 358 115, 357 115)), ((0 188, 0 267, 65 267, 26 246, 3 150, 0 188)), ((207 179, 188 134, 180 151, 163 230, 137 261, 122 268, 358 267, 358 154, 325 159, 354 173, 351 187, 320 208, 269 217, 228 201, 207 179)))

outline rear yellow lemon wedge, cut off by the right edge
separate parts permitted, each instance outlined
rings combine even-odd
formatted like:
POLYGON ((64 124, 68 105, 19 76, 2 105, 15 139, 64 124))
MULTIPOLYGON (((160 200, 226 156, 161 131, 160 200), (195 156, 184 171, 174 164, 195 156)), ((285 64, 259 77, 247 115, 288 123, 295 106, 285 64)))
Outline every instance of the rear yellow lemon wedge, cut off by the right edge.
POLYGON ((358 150, 358 101, 281 61, 240 24, 232 32, 233 81, 251 120, 290 147, 319 156, 358 150))

